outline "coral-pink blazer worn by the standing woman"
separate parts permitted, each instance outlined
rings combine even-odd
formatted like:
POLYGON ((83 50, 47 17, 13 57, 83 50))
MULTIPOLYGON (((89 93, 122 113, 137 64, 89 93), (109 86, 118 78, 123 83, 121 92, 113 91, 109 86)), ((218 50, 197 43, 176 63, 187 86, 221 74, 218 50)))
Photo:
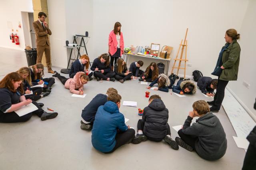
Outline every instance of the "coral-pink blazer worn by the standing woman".
MULTIPOLYGON (((114 55, 117 51, 117 40, 116 40, 116 34, 114 33, 114 30, 111 31, 109 33, 108 36, 108 46, 110 46, 110 54, 114 55)), ((121 53, 120 53, 120 57, 122 56, 122 54, 124 53, 124 37, 123 37, 123 33, 121 32, 120 35, 120 49, 121 49, 121 53)))

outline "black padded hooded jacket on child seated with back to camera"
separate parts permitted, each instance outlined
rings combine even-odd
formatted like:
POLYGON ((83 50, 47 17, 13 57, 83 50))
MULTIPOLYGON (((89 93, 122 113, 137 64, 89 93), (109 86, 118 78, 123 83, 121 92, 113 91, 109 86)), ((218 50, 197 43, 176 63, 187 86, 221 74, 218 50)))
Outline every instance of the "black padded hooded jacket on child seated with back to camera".
POLYGON ((142 121, 144 121, 143 133, 156 141, 161 141, 167 134, 169 111, 161 99, 153 100, 144 108, 142 121))

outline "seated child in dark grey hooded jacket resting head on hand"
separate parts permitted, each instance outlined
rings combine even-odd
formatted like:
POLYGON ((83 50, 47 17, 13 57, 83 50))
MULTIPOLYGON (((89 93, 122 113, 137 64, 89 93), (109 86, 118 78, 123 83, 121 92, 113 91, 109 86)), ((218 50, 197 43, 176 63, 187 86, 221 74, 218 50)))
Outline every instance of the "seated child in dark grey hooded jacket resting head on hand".
POLYGON ((204 100, 198 100, 193 104, 183 125, 178 131, 179 137, 175 141, 186 150, 195 150, 206 160, 217 160, 224 156, 227 149, 227 140, 224 129, 218 117, 212 112, 204 100), (196 123, 190 126, 193 117, 196 123))

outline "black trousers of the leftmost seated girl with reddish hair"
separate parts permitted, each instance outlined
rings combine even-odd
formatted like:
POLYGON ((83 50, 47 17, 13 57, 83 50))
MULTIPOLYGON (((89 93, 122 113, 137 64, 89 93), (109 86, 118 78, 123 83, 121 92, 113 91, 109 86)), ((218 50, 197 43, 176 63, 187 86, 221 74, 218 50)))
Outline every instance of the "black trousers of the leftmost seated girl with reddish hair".
POLYGON ((38 117, 41 117, 42 113, 44 113, 44 110, 38 106, 38 104, 34 101, 32 101, 32 104, 34 104, 38 109, 35 111, 32 111, 31 113, 28 113, 26 115, 23 115, 19 117, 14 111, 10 113, 3 113, 0 115, 0 122, 1 123, 15 123, 15 122, 23 122, 27 121, 32 117, 32 114, 38 115, 38 117))

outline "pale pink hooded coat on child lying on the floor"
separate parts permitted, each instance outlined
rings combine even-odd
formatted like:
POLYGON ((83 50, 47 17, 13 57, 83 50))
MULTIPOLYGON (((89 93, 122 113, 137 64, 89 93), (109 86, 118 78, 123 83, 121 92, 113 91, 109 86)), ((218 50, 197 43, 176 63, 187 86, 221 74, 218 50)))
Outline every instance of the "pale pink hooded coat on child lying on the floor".
POLYGON ((77 72, 74 78, 69 78, 65 83, 65 88, 69 89, 71 93, 79 94, 78 90, 83 90, 84 84, 82 84, 80 77, 85 74, 85 72, 77 72), (78 89, 78 90, 76 90, 78 89))

